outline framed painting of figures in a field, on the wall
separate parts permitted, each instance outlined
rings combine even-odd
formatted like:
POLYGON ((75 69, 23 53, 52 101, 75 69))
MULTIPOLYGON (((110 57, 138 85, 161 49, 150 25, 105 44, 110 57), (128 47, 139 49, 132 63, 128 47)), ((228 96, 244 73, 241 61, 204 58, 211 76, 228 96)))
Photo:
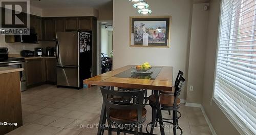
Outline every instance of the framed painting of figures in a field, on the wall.
POLYGON ((130 47, 169 48, 172 16, 131 16, 130 47))

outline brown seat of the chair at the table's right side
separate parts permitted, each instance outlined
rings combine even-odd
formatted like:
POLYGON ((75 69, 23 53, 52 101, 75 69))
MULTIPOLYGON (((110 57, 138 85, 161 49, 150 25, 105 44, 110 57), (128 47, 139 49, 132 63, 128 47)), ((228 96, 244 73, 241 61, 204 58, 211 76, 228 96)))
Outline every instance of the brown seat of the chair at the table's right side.
MULTIPOLYGON (((162 106, 172 107, 174 105, 174 95, 167 95, 167 94, 160 94, 160 103, 162 106)), ((156 103, 155 95, 151 95, 148 97, 148 100, 150 100, 153 103, 156 103)), ((177 98, 177 105, 180 105, 180 99, 177 98)))

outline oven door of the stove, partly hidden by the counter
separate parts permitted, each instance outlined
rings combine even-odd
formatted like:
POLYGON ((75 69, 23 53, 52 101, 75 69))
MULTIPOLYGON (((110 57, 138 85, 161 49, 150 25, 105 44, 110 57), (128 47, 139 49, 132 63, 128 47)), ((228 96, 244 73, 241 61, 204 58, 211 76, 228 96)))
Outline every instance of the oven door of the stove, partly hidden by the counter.
MULTIPOLYGON (((0 66, 8 67, 8 68, 25 68, 25 62, 15 62, 15 63, 3 63, 0 66)), ((19 72, 20 82, 21 82, 21 89, 25 91, 27 89, 26 84, 26 75, 25 70, 19 72)))

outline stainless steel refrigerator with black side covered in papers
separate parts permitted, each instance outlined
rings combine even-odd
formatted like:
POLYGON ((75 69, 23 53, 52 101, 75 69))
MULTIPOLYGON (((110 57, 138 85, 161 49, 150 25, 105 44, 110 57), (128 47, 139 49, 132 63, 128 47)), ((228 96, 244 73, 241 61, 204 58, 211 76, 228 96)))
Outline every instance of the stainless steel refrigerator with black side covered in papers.
POLYGON ((91 77, 91 33, 57 32, 56 38, 57 86, 80 89, 91 77))

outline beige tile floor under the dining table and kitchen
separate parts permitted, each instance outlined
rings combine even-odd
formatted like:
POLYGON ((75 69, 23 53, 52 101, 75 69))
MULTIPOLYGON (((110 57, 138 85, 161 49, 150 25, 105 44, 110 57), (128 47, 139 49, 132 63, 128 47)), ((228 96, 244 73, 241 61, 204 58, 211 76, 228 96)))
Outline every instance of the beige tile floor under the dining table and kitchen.
MULTIPOLYGON (((149 94, 149 93, 148 93, 149 94)), ((70 88, 57 88, 54 85, 41 85, 22 92, 24 125, 8 134, 16 135, 90 135, 96 134, 102 96, 98 86, 77 91, 70 88), (90 127, 77 128, 77 125, 90 127)), ((151 107, 146 106, 146 122, 151 121, 151 107)), ((179 125, 185 135, 211 134, 200 108, 180 108, 182 117, 179 125)), ((167 111, 163 116, 171 118, 167 111)), ((166 124, 168 125, 168 124, 166 124)), ((169 126, 170 127, 170 126, 169 126)), ((145 127, 143 128, 145 130, 145 127)), ((160 134, 159 128, 154 133, 160 134)), ((106 131, 104 134, 108 134, 106 131)), ((116 134, 113 132, 113 134, 116 134)), ((165 128, 165 134, 173 134, 172 128, 165 128)))

